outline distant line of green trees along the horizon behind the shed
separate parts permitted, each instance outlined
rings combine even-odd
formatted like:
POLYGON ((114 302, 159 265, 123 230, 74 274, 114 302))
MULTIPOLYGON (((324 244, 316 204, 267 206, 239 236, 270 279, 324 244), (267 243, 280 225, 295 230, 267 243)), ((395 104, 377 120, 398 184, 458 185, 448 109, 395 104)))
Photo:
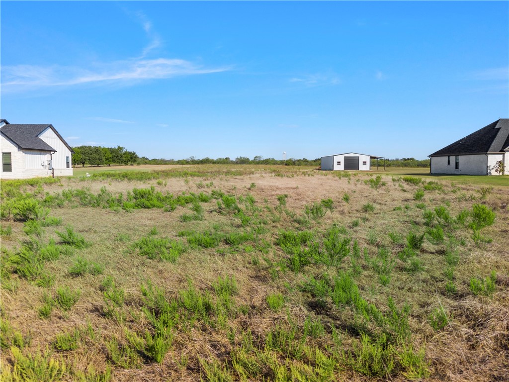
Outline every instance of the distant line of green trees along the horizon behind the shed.
MULTIPOLYGON (((117 146, 78 146, 73 147, 72 162, 75 165, 89 166, 110 166, 110 165, 284 165, 284 166, 314 166, 320 167, 321 158, 315 159, 274 159, 263 158, 261 155, 252 159, 247 156, 238 156, 235 159, 230 157, 212 159, 209 157, 195 158, 190 156, 187 159, 149 159, 146 156, 139 157, 134 151, 127 151, 124 147, 117 146)), ((371 167, 377 166, 377 160, 371 160, 371 167)), ((384 166, 384 159, 378 161, 378 166, 384 166)), ((430 160, 417 160, 415 158, 385 159, 385 167, 429 167, 430 160)))

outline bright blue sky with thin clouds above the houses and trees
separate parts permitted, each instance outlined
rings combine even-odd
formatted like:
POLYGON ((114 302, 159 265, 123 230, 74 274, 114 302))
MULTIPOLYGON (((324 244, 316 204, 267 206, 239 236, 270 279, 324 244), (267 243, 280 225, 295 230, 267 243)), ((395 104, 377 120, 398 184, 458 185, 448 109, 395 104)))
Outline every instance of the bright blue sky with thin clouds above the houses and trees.
POLYGON ((509 117, 508 2, 6 2, 2 118, 149 158, 425 159, 509 117))

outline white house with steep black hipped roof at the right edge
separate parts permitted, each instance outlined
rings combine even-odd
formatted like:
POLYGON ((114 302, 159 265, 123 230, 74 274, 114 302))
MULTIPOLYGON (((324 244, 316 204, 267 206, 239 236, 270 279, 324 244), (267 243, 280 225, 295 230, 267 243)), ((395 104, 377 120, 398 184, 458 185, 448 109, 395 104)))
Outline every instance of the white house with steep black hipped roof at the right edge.
POLYGON ((497 175, 499 161, 509 174, 509 119, 490 123, 429 157, 432 174, 497 175))

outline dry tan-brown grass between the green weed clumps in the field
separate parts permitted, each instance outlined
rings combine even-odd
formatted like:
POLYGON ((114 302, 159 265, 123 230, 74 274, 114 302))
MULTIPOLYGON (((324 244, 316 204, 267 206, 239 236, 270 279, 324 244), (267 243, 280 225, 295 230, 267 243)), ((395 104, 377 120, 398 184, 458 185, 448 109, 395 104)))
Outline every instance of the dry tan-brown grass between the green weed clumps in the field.
MULTIPOLYGON (((346 227, 349 235, 358 240, 360 248, 367 248, 370 256, 377 252, 377 246, 392 249, 395 257, 398 247, 391 243, 388 233, 397 232, 404 240, 410 230, 424 232, 422 210, 415 207, 413 200, 415 190, 419 187, 393 182, 391 177, 385 176, 387 183, 379 189, 370 188, 364 183, 369 174, 352 175, 350 179, 338 178, 332 173, 298 171, 286 172, 284 177, 274 176, 271 172, 256 172, 243 176, 218 176, 216 178, 169 178, 166 185, 158 185, 151 181, 108 181, 108 180, 65 180, 62 185, 44 186, 44 191, 50 194, 61 193, 67 188, 87 187, 94 194, 99 193, 105 186, 112 193, 126 193, 133 187, 155 186, 162 192, 179 195, 182 192, 210 193, 212 189, 221 190, 225 194, 245 196, 250 194, 256 199, 257 206, 269 206, 272 211, 278 205, 277 196, 287 194, 286 209, 297 216, 303 215, 305 205, 331 198, 334 209, 327 212, 322 220, 310 221, 307 227, 298 223, 285 213, 280 220, 272 221, 272 215, 265 209, 261 212, 267 220, 268 232, 264 238, 272 243, 268 253, 263 254, 254 249, 246 252, 241 245, 239 251, 232 251, 226 245, 211 249, 189 249, 179 257, 175 264, 150 260, 128 251, 129 245, 146 236, 153 227, 157 227, 157 236, 166 236, 185 242, 184 237, 177 233, 184 229, 203 231, 212 229, 213 224, 219 224, 222 230, 236 231, 241 229, 239 220, 232 215, 218 215, 216 201, 204 203, 205 220, 201 222, 179 221, 179 216, 188 213, 188 207, 177 207, 173 212, 163 212, 161 209, 133 210, 114 212, 109 209, 91 207, 52 208, 51 215, 62 217, 65 225, 71 225, 77 232, 93 245, 90 248, 76 251, 76 254, 103 264, 104 275, 85 275, 72 278, 68 269, 76 255, 71 258, 47 262, 45 269, 55 276, 53 287, 41 288, 35 284, 19 279, 19 287, 15 292, 2 290, 2 315, 12 326, 24 336, 31 336, 32 342, 26 351, 36 351, 44 348, 55 338, 56 334, 70 331, 74 328, 86 328, 90 322, 97 338, 92 340, 82 336, 81 346, 76 350, 64 352, 62 355, 75 368, 85 370, 88 365, 94 365, 98 370, 105 370, 110 362, 105 342, 112 337, 126 343, 125 328, 131 331, 143 331, 149 327, 147 319, 140 311, 142 294, 140 285, 152 280, 153 284, 166 292, 168 298, 177 298, 179 291, 187 288, 188 280, 192 280, 196 289, 213 293, 212 284, 217 276, 234 275, 239 293, 234 296, 236 306, 247 306, 247 314, 230 317, 227 328, 205 325, 198 322, 187 331, 178 331, 171 349, 166 354, 161 365, 147 362, 140 369, 122 369, 112 366, 113 380, 116 381, 164 381, 164 380, 201 380, 205 378, 204 368, 200 360, 218 360, 231 368, 231 352, 238 347, 242 340, 242 332, 251 331, 254 342, 262 344, 267 333, 276 324, 288 324, 289 320, 297 322, 301 327, 308 316, 318 317, 324 324, 327 335, 316 340, 309 340, 310 344, 326 349, 335 345, 331 339, 332 326, 342 331, 343 346, 351 349, 352 343, 358 341, 358 334, 352 329, 352 312, 348 309, 338 310, 328 303, 329 311, 314 310, 310 297, 298 290, 298 286, 306 276, 320 275, 329 272, 332 276, 338 270, 349 269, 350 261, 337 268, 327 268, 323 265, 308 267, 304 274, 290 270, 280 272, 277 279, 273 279, 270 269, 262 259, 276 262, 286 255, 274 244, 278 230, 312 230, 324 232, 332 224, 346 227), (213 182, 210 188, 198 185, 200 182, 213 182), (250 188, 254 183, 256 187, 250 188), (401 186, 400 186, 401 184, 401 186), (350 195, 350 202, 343 200, 343 195, 350 195), (267 200, 267 203, 264 202, 267 200), (364 212, 362 206, 366 203, 374 205, 373 212, 364 212), (408 208, 405 208, 405 205, 408 208), (401 208, 400 208, 401 207, 401 208), (352 222, 358 220, 356 227, 352 222), (377 242, 370 244, 369 235, 375 235, 377 242), (127 242, 117 240, 119 234, 129 235, 127 242), (218 251, 222 250, 222 251, 218 251), (251 264, 252 257, 260 261, 260 265, 251 264), (107 318, 103 314, 104 301, 99 286, 105 276, 112 276, 118 287, 125 290, 125 305, 121 308, 126 316, 123 323, 107 318), (60 285, 70 285, 73 289, 82 291, 78 303, 68 312, 57 308, 48 319, 38 316, 38 309, 43 304, 43 295, 53 293, 60 285), (267 307, 266 297, 270 293, 281 292, 285 295, 285 308, 273 312, 267 307), (234 339, 228 338, 229 331, 233 331, 234 339)), ((453 192, 450 183, 443 182, 446 192, 426 192, 422 201, 428 209, 436 206, 447 206, 451 216, 456 216, 462 209, 470 208, 473 203, 471 196, 476 196, 476 186, 460 185, 453 192)), ((419 257, 425 270, 415 275, 404 271, 404 263, 396 260, 393 278, 388 286, 378 282, 377 276, 369 264, 361 259, 362 274, 357 283, 361 295, 369 302, 386 309, 387 297, 392 296, 398 306, 407 303, 411 306, 410 326, 413 333, 412 341, 418 346, 426 348, 426 357, 431 362, 431 375, 427 380, 509 380, 507 365, 509 364, 509 298, 507 287, 509 282, 509 189, 495 187, 488 196, 486 205, 493 208, 497 214, 495 225, 486 228, 483 233, 493 238, 491 244, 485 248, 477 248, 471 240, 468 228, 454 232, 457 240, 464 240, 464 245, 458 245, 460 264, 456 267, 455 276, 458 294, 448 296, 444 293, 445 279, 443 270, 445 262, 442 251, 444 244, 433 244, 425 240, 419 257), (497 289, 492 296, 475 296, 469 292, 468 280, 474 276, 487 277, 491 270, 497 271, 497 289), (435 332, 428 317, 432 310, 442 305, 449 313, 449 323, 441 331, 435 332)), ((277 215, 273 212, 274 215, 277 215)), ((3 223, 6 224, 6 223, 3 223)), ((19 249, 20 242, 25 238, 22 223, 9 222, 13 233, 9 238, 2 238, 2 247, 10 251, 19 249)), ((58 239, 54 231, 61 227, 45 228, 45 240, 50 237, 58 239)), ((250 244, 255 247, 254 243, 250 244)), ((361 258, 362 258, 361 254, 361 258)), ((2 364, 12 367, 12 356, 8 349, 2 351, 2 364)), ((280 359, 284 359, 280 356, 280 359)), ((297 362, 297 361, 295 361, 297 362)), ((352 371, 343 366, 335 370, 334 378, 349 380, 375 380, 352 371)), ((67 377, 72 380, 72 374, 67 377)), ((387 379, 405 380, 402 374, 391 375, 387 379)))

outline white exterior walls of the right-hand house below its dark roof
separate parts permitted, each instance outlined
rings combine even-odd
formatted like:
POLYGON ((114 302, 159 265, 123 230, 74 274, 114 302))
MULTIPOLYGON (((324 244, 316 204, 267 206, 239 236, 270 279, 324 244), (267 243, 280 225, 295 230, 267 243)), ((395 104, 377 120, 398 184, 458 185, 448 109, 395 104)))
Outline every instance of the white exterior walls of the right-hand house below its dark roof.
POLYGON ((506 167, 505 174, 507 174, 509 153, 433 156, 431 157, 431 173, 457 175, 497 175, 494 169, 496 163, 500 160, 506 167), (456 157, 458 157, 458 169, 456 169, 456 157))

